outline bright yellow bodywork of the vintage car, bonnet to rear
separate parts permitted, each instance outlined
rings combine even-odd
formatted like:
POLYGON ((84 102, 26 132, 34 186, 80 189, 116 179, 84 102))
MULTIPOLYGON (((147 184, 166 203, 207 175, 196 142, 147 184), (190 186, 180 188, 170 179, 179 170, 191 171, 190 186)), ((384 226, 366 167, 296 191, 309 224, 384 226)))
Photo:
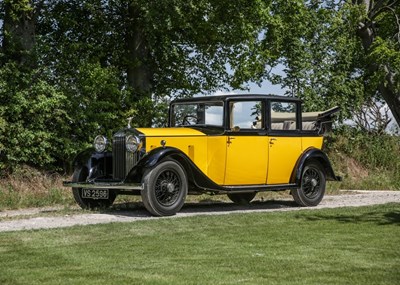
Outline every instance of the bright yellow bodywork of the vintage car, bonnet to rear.
POLYGON ((322 148, 323 137, 207 136, 189 128, 138 128, 146 152, 166 146, 182 151, 213 182, 223 186, 287 184, 300 155, 322 148))

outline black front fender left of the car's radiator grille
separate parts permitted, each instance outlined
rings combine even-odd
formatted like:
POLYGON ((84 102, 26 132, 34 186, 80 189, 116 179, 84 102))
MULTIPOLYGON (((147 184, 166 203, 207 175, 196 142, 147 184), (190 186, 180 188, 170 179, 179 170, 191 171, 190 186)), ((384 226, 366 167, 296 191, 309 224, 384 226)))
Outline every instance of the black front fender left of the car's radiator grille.
POLYGON ((106 176, 112 173, 112 153, 95 152, 92 148, 80 152, 74 159, 74 169, 87 168, 88 179, 106 176))

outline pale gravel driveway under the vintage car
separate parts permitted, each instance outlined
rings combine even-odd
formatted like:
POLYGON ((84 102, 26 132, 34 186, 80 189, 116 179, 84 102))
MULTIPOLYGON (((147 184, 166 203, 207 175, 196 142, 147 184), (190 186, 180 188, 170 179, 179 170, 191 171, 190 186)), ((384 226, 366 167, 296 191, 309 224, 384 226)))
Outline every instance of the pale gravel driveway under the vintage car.
MULTIPOLYGON (((325 196, 317 207, 302 208, 293 200, 255 201, 248 206, 239 206, 228 202, 187 203, 173 217, 179 218, 198 215, 226 215, 232 213, 273 212, 318 210, 323 208, 358 207, 386 203, 400 203, 400 191, 346 191, 346 194, 325 196)), ((0 232, 50 229, 75 225, 92 225, 113 222, 135 222, 152 217, 142 206, 127 210, 109 210, 105 212, 60 215, 62 208, 35 208, 14 211, 0 211, 0 232)))

